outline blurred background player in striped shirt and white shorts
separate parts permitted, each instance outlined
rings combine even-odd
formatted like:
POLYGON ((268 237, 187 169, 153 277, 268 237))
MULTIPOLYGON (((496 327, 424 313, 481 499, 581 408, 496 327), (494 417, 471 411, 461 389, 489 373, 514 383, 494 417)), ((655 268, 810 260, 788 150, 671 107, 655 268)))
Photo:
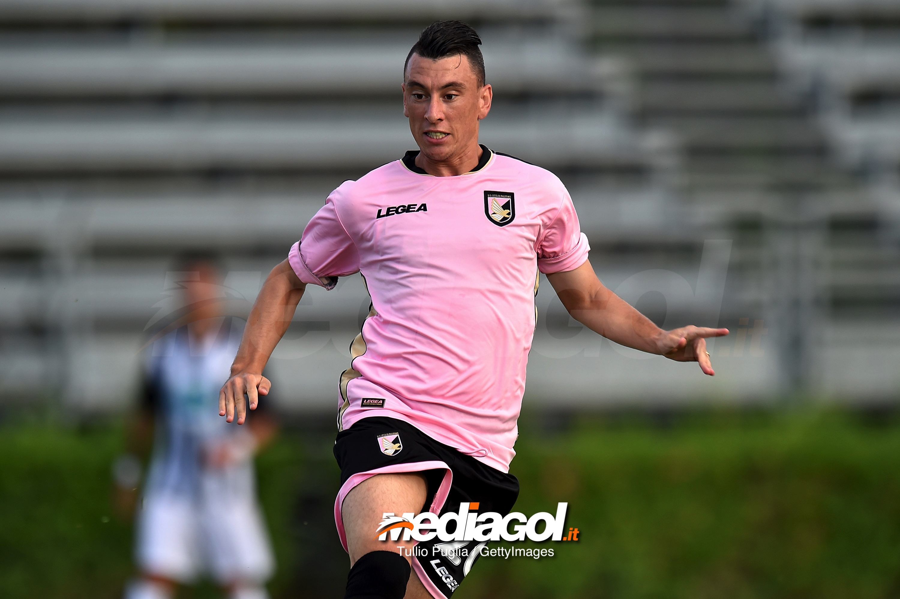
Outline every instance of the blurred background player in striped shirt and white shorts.
POLYGON ((238 351, 244 321, 224 316, 225 294, 212 256, 186 256, 179 270, 185 308, 170 326, 177 328, 148 347, 131 452, 114 469, 119 504, 133 505, 136 454, 146 453, 152 435, 137 514, 140 575, 125 599, 167 599, 178 584, 201 575, 232 599, 266 599, 264 583, 274 560, 257 505, 253 457, 274 436, 275 422, 258 411, 247 427, 217 416, 219 388, 238 351))

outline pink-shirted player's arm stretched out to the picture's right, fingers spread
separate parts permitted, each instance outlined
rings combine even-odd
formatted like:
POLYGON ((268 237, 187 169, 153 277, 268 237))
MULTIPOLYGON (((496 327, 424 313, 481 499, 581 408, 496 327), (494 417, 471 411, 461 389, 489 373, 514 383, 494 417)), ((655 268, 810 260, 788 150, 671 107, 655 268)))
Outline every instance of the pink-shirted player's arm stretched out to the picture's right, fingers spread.
POLYGON ((547 279, 569 314, 590 330, 642 352, 678 362, 699 362, 704 373, 716 373, 707 353, 707 337, 728 335, 727 328, 682 326, 664 331, 609 291, 597 278, 590 261, 572 271, 548 274, 547 279))

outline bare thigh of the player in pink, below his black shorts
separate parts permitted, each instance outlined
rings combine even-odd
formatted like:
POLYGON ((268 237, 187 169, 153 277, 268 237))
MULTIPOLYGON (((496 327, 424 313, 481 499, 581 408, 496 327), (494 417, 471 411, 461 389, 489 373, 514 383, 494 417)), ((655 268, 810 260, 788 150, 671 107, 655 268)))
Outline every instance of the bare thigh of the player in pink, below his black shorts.
POLYGON ((419 472, 376 474, 353 487, 341 505, 350 565, 370 551, 411 550, 414 541, 379 541, 375 531, 385 512, 419 514, 427 495, 428 484, 419 472))

